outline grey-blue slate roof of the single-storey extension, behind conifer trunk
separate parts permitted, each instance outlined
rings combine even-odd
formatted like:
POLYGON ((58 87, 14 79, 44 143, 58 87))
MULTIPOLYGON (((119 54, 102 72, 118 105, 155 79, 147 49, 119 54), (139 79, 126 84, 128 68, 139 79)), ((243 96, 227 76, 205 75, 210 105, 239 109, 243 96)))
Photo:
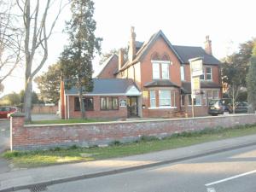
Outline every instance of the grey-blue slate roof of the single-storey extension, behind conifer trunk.
MULTIPOLYGON (((88 95, 114 95, 125 94, 132 86, 136 86, 132 79, 92 79, 93 90, 88 95)), ((138 89, 137 89, 138 90, 138 89)), ((65 90, 66 95, 77 95, 79 90, 76 87, 65 90)))

